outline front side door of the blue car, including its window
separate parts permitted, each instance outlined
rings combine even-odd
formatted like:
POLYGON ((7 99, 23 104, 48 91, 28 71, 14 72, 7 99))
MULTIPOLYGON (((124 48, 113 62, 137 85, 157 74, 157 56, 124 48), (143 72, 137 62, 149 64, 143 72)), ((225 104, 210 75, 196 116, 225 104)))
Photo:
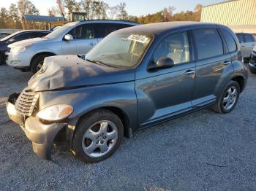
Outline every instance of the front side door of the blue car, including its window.
POLYGON ((146 71, 136 79, 138 124, 140 128, 173 117, 192 108, 195 84, 195 61, 187 32, 165 37, 154 50, 154 63, 159 58, 173 59, 174 66, 146 71))

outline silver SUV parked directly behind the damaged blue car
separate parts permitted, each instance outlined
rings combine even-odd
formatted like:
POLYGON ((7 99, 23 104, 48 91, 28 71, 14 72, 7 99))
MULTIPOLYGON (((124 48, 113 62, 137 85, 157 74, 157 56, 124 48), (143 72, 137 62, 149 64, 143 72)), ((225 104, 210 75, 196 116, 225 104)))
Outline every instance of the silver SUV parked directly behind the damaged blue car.
POLYGON ((7 64, 15 69, 36 73, 44 59, 52 55, 84 55, 103 37, 121 28, 137 26, 120 20, 86 20, 67 23, 44 39, 11 44, 7 64))

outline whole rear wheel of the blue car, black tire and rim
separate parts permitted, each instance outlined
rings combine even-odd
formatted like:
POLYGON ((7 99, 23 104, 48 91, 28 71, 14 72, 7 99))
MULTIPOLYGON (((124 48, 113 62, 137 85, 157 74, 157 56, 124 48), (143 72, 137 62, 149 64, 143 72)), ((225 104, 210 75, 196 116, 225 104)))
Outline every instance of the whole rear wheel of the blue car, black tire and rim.
POLYGON ((240 87, 237 82, 231 80, 222 90, 217 103, 211 106, 214 112, 227 114, 236 107, 240 94, 240 87))

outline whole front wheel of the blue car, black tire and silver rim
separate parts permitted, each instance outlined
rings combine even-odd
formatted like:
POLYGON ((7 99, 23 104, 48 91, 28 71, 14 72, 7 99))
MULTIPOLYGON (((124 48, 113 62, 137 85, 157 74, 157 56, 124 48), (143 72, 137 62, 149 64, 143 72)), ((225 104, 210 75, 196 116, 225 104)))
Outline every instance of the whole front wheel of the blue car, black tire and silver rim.
POLYGON ((113 155, 123 138, 124 125, 120 118, 107 109, 99 109, 78 122, 72 152, 84 163, 98 163, 113 155))

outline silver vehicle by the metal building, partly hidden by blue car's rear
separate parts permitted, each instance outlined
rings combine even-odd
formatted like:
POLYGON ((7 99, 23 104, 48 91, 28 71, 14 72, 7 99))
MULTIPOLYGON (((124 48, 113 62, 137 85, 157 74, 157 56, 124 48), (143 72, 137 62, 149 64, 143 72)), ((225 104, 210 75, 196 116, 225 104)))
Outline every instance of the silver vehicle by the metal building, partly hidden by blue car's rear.
POLYGON ((236 36, 238 37, 238 40, 241 44, 242 55, 246 60, 249 60, 252 49, 256 45, 256 39, 254 34, 237 33, 236 36))

